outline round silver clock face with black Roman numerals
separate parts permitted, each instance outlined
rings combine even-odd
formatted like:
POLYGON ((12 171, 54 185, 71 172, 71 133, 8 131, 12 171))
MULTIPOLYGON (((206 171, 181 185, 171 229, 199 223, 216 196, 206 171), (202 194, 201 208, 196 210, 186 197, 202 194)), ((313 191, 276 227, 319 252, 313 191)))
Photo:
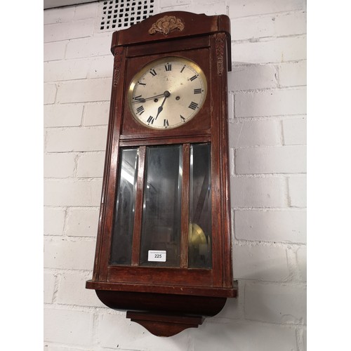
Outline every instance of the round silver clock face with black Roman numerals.
POLYGON ((204 105, 207 81, 191 60, 167 57, 140 69, 128 90, 133 117, 154 129, 176 128, 190 121, 204 105))

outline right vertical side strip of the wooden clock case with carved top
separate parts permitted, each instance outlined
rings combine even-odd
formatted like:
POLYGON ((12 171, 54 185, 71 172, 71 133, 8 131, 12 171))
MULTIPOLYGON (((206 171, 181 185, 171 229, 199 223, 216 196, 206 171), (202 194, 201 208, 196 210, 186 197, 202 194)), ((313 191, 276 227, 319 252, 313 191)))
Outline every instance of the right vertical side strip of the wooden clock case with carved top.
POLYGON ((231 62, 227 61, 227 51, 230 51, 230 41, 227 33, 220 32, 211 37, 211 47, 215 48, 211 58, 212 86, 211 100, 218 100, 212 114, 212 167, 216 183, 213 184, 213 204, 218 209, 213 210, 213 230, 217 230, 218 240, 214 241, 216 247, 213 251, 214 277, 218 280, 213 282, 223 287, 230 288, 236 285, 232 275, 232 234, 230 213, 230 164, 229 164, 229 137, 228 137, 228 102, 227 102, 227 71, 231 62), (218 199, 220 194, 220 199, 218 199))

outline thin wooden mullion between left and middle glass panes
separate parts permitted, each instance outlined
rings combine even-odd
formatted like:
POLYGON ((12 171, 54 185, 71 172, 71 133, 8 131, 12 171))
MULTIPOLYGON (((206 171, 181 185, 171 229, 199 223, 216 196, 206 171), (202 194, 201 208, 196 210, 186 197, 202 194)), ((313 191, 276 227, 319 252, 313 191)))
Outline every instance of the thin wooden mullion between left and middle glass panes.
POLYGON ((131 265, 139 265, 140 259, 140 238, 141 226, 143 220, 143 198, 144 198, 144 176, 145 176, 145 158, 146 146, 140 146, 138 157, 138 179, 136 184, 135 195, 135 213, 134 213, 134 227, 133 227, 133 246, 131 265))

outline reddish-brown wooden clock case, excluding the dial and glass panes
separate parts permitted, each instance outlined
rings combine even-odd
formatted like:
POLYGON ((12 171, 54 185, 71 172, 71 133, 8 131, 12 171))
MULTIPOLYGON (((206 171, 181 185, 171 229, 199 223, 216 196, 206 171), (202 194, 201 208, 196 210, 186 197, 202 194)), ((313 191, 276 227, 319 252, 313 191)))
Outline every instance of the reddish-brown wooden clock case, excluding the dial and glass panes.
POLYGON ((232 279, 230 186, 227 135, 227 69, 231 69, 230 20, 225 15, 174 11, 154 15, 114 32, 114 71, 107 132, 105 171, 93 279, 87 289, 113 309, 157 336, 172 336, 197 327, 204 316, 222 310, 237 295, 232 279), (198 114, 178 128, 153 130, 135 121, 127 101, 128 86, 138 70, 157 58, 193 60, 206 75, 208 93, 198 114), (211 143, 212 267, 188 267, 189 145, 211 143), (141 267, 145 148, 183 145, 180 267, 141 267), (110 250, 121 147, 140 147, 131 265, 111 265, 110 250))

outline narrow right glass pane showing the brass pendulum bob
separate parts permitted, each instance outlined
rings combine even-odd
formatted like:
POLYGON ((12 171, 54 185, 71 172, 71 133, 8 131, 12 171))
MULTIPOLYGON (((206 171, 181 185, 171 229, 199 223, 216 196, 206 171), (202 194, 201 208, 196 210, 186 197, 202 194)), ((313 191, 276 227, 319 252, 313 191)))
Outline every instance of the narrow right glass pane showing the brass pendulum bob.
POLYGON ((189 267, 211 268, 211 144, 190 145, 189 267))

